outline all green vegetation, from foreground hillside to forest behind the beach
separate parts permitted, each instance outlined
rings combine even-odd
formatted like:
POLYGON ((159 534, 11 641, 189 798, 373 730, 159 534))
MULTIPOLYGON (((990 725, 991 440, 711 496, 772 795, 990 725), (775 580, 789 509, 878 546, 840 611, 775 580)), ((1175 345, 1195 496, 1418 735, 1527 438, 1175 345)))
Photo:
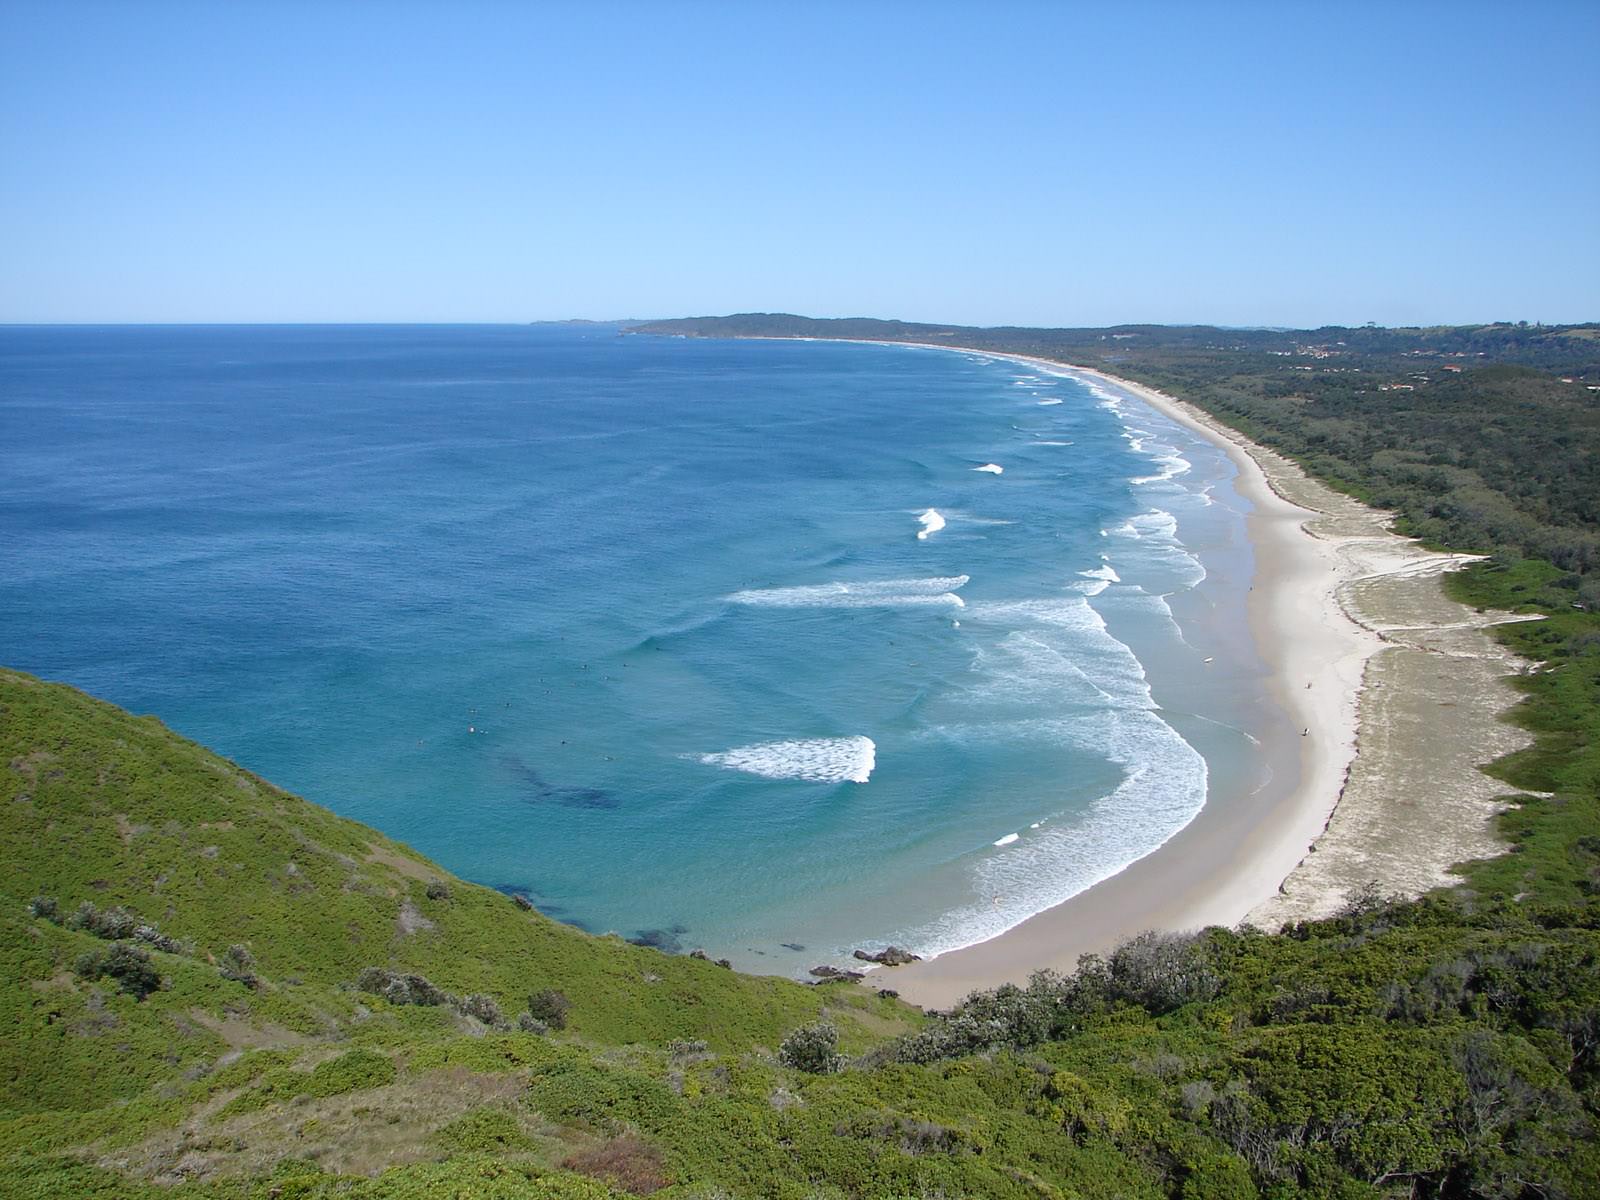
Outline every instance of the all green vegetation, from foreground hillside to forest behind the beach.
POLYGON ((1502 632, 1541 664, 1517 714, 1538 742, 1494 766, 1510 853, 1419 901, 1149 934, 925 1018, 589 938, 0 670, 0 1197, 1600 1197, 1595 402, 1546 378, 1594 381, 1594 338, 1328 339, 1424 395, 1280 379, 1338 362, 1280 355, 1309 334, 1120 333, 963 342, 1206 403, 1494 550, 1462 600, 1546 614, 1502 632), (1414 366, 1478 349, 1496 365, 1414 366), (1498 467, 1475 421, 1539 462, 1498 467))

